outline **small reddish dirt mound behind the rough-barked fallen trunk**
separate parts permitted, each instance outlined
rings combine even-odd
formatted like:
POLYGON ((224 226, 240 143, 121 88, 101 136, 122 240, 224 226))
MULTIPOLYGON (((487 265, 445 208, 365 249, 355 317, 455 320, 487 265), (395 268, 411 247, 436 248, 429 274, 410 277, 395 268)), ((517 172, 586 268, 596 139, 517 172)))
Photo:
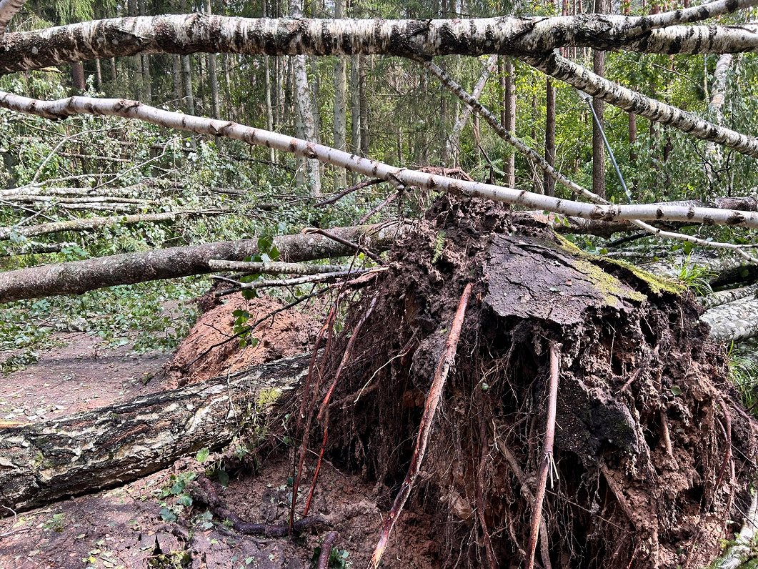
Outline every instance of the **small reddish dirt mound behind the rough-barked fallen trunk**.
POLYGON ((180 385, 202 382, 255 363, 308 351, 318 331, 315 316, 294 309, 276 312, 283 306, 271 297, 245 300, 240 293, 231 294, 224 304, 200 316, 171 360, 169 378, 180 385), (249 337, 255 341, 245 346, 234 337, 240 312, 249 315, 244 325, 262 320, 249 337))

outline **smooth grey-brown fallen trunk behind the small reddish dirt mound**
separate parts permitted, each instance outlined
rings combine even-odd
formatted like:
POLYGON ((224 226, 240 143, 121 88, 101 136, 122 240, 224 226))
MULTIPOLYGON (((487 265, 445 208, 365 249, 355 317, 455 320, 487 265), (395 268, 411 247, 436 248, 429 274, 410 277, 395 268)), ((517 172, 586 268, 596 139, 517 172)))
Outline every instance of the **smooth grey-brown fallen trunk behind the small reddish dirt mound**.
MULTIPOLYGON (((336 228, 332 234, 343 240, 373 250, 389 247, 397 228, 377 225, 336 228)), ((354 247, 339 243, 321 234, 295 234, 274 237, 274 246, 280 258, 287 262, 300 262, 326 257, 348 256, 354 247)), ((115 285, 133 285, 137 282, 164 278, 203 275, 213 269, 211 259, 241 261, 258 253, 257 239, 220 241, 190 247, 171 247, 145 253, 124 253, 64 262, 59 265, 42 265, 0 273, 0 303, 25 298, 82 294, 96 288, 115 285)))

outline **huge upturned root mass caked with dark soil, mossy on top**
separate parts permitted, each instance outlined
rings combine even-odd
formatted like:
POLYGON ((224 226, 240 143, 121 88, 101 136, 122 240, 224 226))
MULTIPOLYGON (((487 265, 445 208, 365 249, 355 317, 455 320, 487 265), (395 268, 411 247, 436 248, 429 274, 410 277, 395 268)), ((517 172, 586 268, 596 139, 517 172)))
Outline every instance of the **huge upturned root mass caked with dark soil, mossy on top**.
POLYGON ((562 348, 537 562, 697 567, 716 555, 747 500, 756 426, 731 398, 722 351, 683 291, 548 231, 522 233, 502 209, 447 197, 389 266, 315 366, 304 409, 317 409, 338 369, 340 379, 311 448, 328 426, 328 456, 396 492, 446 331, 472 282, 456 368, 416 482, 415 507, 440 523, 441 561, 524 562, 551 343, 562 348))

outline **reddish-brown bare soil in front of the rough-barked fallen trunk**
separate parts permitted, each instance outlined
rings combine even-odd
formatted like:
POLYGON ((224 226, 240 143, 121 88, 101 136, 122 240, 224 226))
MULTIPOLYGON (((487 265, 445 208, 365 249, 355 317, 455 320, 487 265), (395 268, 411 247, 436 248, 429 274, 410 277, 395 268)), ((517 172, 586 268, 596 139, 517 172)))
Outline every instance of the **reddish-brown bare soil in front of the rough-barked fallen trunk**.
MULTIPOLYGON (((291 464, 271 459, 257 476, 232 479, 219 495, 247 520, 286 523, 287 477, 291 464)), ((155 494, 174 471, 202 472, 192 460, 139 482, 108 492, 81 496, 0 520, 0 569, 67 569, 68 567, 193 567, 205 569, 298 569, 312 567, 323 539, 305 533, 292 541, 243 536, 227 530, 223 520, 204 529, 204 510, 193 508, 175 523, 165 523, 155 494), (62 516, 62 517, 61 517, 62 516), (195 523, 193 523, 193 520, 195 523)), ((381 527, 374 487, 360 476, 348 476, 326 464, 320 474, 313 514, 333 522, 335 546, 347 552, 354 567, 365 567, 381 527)), ((437 545, 431 517, 411 514, 399 524, 402 542, 385 567, 432 569, 437 545)))

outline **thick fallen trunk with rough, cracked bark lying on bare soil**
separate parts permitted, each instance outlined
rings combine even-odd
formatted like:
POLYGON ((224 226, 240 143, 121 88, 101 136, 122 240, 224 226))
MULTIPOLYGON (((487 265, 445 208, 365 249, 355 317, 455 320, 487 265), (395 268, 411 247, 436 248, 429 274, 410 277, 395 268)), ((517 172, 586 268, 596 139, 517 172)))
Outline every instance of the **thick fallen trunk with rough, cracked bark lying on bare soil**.
MULTIPOLYGON (((201 448, 221 448, 257 394, 295 385, 309 356, 161 391, 64 419, 0 429, 0 505, 16 512, 139 479, 201 448)), ((0 517, 9 512, 0 508, 0 517)))

